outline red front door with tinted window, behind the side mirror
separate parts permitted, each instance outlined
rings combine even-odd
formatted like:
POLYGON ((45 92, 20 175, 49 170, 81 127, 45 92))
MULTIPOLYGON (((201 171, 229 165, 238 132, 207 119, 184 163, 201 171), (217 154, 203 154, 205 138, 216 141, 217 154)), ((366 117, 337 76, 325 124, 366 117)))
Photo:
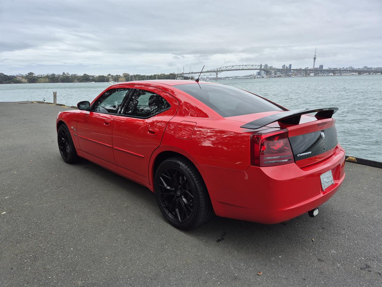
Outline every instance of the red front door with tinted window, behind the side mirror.
POLYGON ((82 111, 77 118, 77 136, 83 155, 114 169, 117 165, 112 129, 128 91, 128 88, 107 90, 94 101, 91 111, 82 111))

